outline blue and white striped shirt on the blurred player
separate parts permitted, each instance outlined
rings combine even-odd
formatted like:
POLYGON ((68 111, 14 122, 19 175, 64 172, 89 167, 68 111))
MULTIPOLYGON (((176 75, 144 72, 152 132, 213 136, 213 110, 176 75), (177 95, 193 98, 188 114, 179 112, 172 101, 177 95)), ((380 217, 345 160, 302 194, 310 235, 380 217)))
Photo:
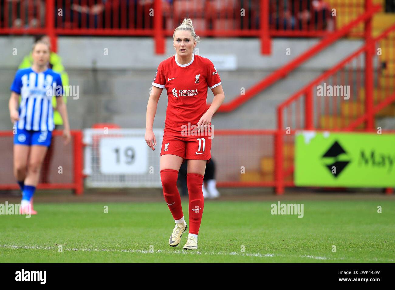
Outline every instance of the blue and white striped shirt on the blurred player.
POLYGON ((21 95, 17 129, 33 131, 54 129, 52 98, 54 95, 56 97, 63 95, 62 80, 58 73, 52 69, 41 73, 36 73, 31 67, 19 69, 10 90, 21 95))

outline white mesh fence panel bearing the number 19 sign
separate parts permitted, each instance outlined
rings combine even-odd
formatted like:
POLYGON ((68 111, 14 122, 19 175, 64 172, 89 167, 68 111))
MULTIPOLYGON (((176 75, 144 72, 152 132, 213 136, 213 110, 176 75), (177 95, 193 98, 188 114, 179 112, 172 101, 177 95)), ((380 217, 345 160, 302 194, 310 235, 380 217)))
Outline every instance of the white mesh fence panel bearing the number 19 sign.
POLYGON ((154 129, 155 151, 145 142, 145 129, 85 129, 86 187, 162 187, 160 150, 163 129, 154 129))

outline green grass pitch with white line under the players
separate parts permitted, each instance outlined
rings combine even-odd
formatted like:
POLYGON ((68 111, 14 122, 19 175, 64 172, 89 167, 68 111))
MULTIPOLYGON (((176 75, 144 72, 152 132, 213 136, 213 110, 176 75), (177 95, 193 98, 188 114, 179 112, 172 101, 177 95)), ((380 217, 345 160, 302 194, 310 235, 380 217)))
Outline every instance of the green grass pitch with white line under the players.
POLYGON ((394 202, 282 202, 303 203, 304 217, 271 215, 276 201, 206 202, 198 251, 182 250, 186 233, 168 245, 174 221, 164 202, 37 203, 31 218, 0 215, 0 261, 394 262, 394 202))

